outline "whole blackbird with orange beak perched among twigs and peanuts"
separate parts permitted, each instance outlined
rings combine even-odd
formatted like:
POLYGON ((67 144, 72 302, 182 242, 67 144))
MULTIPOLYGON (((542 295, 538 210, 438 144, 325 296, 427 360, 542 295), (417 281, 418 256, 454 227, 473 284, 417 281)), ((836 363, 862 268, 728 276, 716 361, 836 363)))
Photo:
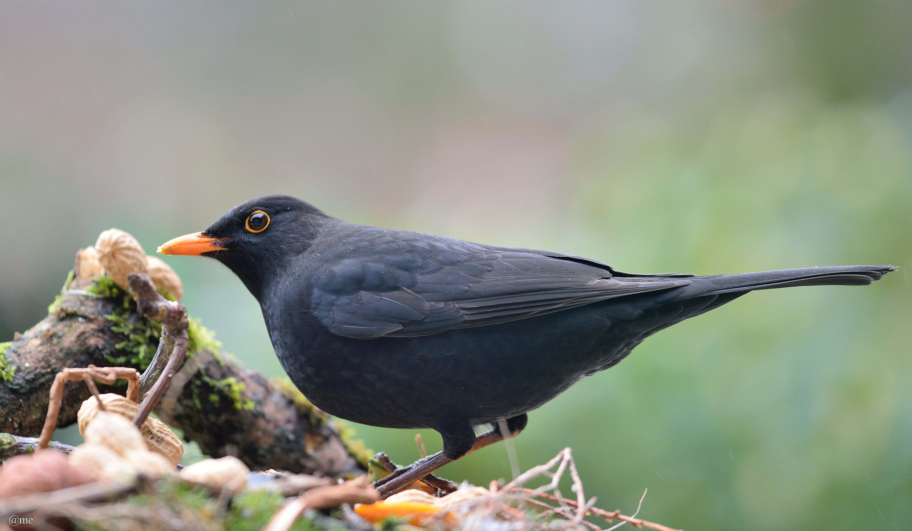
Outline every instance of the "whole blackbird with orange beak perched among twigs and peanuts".
POLYGON ((282 195, 247 201, 159 252, 228 266, 259 301, 285 372, 326 413, 440 433, 443 451, 391 475, 384 495, 503 433, 476 440, 473 426, 506 421, 518 433, 526 412, 676 322, 748 291, 865 285, 895 269, 637 275, 348 223, 282 195))

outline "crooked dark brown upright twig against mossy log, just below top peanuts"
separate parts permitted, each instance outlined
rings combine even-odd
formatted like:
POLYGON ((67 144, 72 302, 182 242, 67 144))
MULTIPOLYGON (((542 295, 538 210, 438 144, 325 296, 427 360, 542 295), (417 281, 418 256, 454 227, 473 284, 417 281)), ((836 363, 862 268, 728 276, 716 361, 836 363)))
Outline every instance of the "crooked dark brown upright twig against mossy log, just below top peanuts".
MULTIPOLYGON (((187 344, 190 341, 187 330, 190 328, 190 320, 183 304, 162 297, 152 284, 149 275, 130 273, 127 276, 127 284, 130 286, 130 295, 136 300, 136 311, 146 319, 161 324, 160 348, 155 353, 153 364, 157 367, 161 363, 160 359, 168 360, 161 376, 152 385, 149 393, 143 397, 140 410, 133 417, 133 424, 140 427, 149 417, 152 408, 159 403, 165 391, 168 390, 171 378, 181 368, 181 363, 187 356, 187 344), (167 352, 168 346, 171 346, 171 352, 167 352)), ((149 369, 146 372, 154 376, 155 367, 151 367, 152 373, 149 369)), ((143 376, 145 375, 143 373, 143 376)), ((149 380, 146 380, 144 384, 148 383, 149 380)), ((140 385, 141 387, 142 385, 140 385)))

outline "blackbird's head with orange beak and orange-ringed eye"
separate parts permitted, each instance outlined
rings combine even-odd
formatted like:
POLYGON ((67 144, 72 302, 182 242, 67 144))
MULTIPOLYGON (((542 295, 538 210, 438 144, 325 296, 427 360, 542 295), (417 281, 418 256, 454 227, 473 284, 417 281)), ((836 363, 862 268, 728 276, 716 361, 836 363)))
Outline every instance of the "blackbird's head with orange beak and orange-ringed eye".
POLYGON ((219 260, 259 299, 265 282, 307 250, 328 219, 300 199, 264 196, 225 212, 202 232, 166 241, 158 251, 219 260))

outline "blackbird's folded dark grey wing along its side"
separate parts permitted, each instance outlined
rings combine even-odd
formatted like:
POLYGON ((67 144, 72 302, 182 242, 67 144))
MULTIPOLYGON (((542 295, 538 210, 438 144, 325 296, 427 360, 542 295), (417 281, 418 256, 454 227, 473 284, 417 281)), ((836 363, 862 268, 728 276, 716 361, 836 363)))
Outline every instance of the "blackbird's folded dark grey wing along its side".
POLYGON ((614 277, 604 264, 580 257, 421 236, 364 258, 349 254, 317 274, 311 299, 317 318, 344 337, 411 337, 690 283, 614 277))

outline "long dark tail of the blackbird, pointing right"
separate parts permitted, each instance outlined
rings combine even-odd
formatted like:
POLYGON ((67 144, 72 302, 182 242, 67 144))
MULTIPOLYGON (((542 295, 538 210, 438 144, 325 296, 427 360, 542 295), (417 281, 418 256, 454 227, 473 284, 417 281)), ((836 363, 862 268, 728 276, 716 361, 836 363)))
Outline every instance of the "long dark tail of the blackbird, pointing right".
POLYGON ((733 275, 711 275, 696 277, 685 290, 694 295, 721 295, 724 293, 746 293, 754 290, 791 288, 793 286, 866 286, 890 271, 893 266, 835 266, 808 268, 804 270, 762 271, 733 275), (699 280, 698 280, 699 279, 699 280))

